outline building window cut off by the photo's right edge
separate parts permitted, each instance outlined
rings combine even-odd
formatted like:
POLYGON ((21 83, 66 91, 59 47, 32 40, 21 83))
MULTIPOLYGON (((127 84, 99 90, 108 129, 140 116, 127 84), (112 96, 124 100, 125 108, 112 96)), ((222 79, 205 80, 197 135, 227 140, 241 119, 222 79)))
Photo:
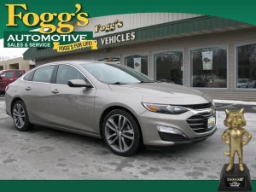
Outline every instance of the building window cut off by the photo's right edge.
POLYGON ((236 48, 236 88, 256 89, 256 44, 236 48))

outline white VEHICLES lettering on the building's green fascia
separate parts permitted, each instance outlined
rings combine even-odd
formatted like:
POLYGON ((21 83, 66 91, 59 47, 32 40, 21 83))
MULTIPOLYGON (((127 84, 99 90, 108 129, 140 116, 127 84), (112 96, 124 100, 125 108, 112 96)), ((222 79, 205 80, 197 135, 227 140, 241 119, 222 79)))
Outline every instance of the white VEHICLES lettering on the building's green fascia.
POLYGON ((113 35, 106 38, 101 38, 102 45, 116 44, 125 41, 132 41, 136 38, 135 32, 126 32, 119 35, 113 35))

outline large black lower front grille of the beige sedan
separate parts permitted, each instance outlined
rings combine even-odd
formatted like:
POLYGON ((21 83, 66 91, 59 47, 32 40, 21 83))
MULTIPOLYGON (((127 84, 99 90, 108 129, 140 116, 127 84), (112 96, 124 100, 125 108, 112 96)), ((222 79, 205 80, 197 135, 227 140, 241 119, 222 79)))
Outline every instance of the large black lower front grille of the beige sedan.
POLYGON ((209 117, 214 115, 216 116, 216 110, 212 113, 197 113, 189 117, 189 119, 187 119, 187 123, 196 133, 211 131, 212 129, 208 129, 207 121, 209 117))

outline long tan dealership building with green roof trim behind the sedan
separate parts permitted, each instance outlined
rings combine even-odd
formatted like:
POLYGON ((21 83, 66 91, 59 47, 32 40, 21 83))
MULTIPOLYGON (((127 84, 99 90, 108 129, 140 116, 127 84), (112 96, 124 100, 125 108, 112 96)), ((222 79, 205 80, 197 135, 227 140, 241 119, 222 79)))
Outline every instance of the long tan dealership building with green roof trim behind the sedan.
POLYGON ((36 66, 68 60, 111 61, 214 99, 256 102, 256 26, 214 16, 152 13, 90 18, 98 49, 27 49, 36 66))

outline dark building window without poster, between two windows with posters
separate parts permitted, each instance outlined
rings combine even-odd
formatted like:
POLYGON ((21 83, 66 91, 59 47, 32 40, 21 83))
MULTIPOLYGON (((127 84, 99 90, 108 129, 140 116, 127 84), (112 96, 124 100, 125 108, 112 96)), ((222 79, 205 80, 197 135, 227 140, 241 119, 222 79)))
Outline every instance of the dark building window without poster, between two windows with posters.
POLYGON ((155 79, 183 85, 183 52, 170 51, 154 55, 155 79))

